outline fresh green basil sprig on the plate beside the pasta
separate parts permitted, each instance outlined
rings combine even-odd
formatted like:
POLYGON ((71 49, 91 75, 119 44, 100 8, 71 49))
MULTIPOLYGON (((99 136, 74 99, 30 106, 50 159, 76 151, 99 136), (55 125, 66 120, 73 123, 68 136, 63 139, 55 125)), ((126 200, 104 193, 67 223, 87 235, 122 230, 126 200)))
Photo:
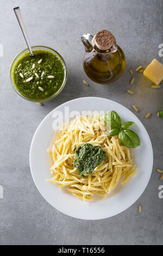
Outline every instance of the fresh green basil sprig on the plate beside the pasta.
POLYGON ((120 116, 114 110, 105 113, 104 122, 106 126, 109 126, 111 129, 108 136, 112 137, 118 135, 122 145, 127 148, 136 148, 140 146, 139 136, 134 131, 127 129, 133 125, 134 122, 128 121, 122 124, 120 116))

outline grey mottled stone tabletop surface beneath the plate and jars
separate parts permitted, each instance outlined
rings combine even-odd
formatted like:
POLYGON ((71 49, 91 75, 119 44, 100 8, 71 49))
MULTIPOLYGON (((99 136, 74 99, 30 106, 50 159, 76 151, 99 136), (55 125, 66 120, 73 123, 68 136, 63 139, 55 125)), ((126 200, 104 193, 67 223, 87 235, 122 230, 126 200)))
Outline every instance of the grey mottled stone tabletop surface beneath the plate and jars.
POLYGON ((163 42, 162 0, 1 0, 0 43, 0 199, 1 244, 97 244, 97 245, 161 245, 163 236, 162 203, 158 187, 162 185, 156 168, 163 168, 162 126, 157 109, 163 110, 162 89, 151 89, 151 82, 135 74, 129 85, 129 69, 144 68, 158 56, 163 42), (13 7, 20 5, 32 45, 47 45, 57 50, 68 67, 64 90, 54 100, 37 106, 18 96, 11 88, 9 68, 14 57, 26 48, 13 7), (83 32, 95 34, 109 29, 127 58, 126 72, 110 86, 91 82, 83 71, 83 32), (83 85, 83 79, 90 87, 83 85), (127 89, 135 94, 129 95, 127 89), (151 137, 154 166, 151 180, 139 200, 121 214, 100 221, 83 221, 68 217, 52 208, 37 191, 29 168, 29 148, 40 121, 61 103, 83 96, 101 96, 136 113, 151 137), (145 119, 148 112, 149 119, 145 119), (138 207, 142 205, 139 214, 138 207))

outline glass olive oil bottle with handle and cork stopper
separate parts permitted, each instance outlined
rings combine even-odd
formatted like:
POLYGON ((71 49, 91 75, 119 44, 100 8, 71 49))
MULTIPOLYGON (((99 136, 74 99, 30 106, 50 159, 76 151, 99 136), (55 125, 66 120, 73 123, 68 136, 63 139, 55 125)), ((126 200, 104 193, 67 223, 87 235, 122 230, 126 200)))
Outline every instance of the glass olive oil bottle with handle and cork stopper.
POLYGON ((114 35, 104 29, 94 37, 83 34, 81 39, 85 46, 83 68, 86 75, 100 84, 118 80, 126 68, 126 57, 114 35))

